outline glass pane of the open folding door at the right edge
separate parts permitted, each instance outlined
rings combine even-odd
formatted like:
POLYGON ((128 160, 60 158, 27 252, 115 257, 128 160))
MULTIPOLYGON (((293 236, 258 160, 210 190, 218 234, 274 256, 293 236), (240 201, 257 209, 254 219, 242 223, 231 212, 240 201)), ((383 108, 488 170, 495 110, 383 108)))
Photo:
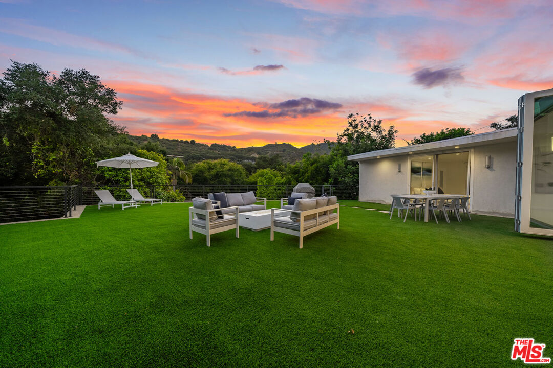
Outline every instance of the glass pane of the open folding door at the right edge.
POLYGON ((530 227, 553 229, 553 95, 534 99, 532 157, 530 227))

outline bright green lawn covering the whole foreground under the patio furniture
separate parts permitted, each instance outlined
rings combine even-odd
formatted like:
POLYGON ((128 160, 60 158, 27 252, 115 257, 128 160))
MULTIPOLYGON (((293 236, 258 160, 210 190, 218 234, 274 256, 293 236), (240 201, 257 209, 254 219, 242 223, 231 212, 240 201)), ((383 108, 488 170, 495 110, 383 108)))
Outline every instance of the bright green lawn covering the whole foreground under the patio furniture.
POLYGON ((522 366, 514 338, 553 358, 553 242, 342 204, 304 249, 207 248, 187 204, 0 226, 0 366, 522 366))

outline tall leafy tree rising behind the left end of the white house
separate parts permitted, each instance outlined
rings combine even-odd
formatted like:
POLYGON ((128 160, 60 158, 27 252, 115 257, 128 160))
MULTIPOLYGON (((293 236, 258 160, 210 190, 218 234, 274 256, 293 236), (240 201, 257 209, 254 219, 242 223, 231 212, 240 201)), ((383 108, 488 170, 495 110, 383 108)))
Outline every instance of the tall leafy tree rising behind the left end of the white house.
POLYGON ((336 143, 325 140, 331 148, 331 164, 328 168, 329 184, 358 185, 359 163, 348 161, 352 154, 385 150, 395 147, 398 131, 389 126, 384 129, 382 120, 367 116, 349 114, 346 129, 338 134, 336 143))

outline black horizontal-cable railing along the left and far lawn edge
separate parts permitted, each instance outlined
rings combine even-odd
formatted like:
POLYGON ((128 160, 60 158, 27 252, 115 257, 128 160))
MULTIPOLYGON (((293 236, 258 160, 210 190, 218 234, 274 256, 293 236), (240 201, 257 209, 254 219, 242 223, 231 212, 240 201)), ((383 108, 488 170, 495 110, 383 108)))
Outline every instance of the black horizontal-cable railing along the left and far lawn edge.
MULTIPOLYGON (((295 185, 258 184, 178 184, 135 185, 145 198, 162 198, 164 202, 207 198, 209 193, 244 193, 252 190, 267 200, 288 198, 295 185)), ((358 198, 358 186, 313 185, 315 196, 336 195, 338 199, 358 198)), ((77 205, 97 205, 95 190, 107 189, 117 200, 129 200, 127 185, 0 186, 0 223, 45 218, 72 217, 77 205)))

